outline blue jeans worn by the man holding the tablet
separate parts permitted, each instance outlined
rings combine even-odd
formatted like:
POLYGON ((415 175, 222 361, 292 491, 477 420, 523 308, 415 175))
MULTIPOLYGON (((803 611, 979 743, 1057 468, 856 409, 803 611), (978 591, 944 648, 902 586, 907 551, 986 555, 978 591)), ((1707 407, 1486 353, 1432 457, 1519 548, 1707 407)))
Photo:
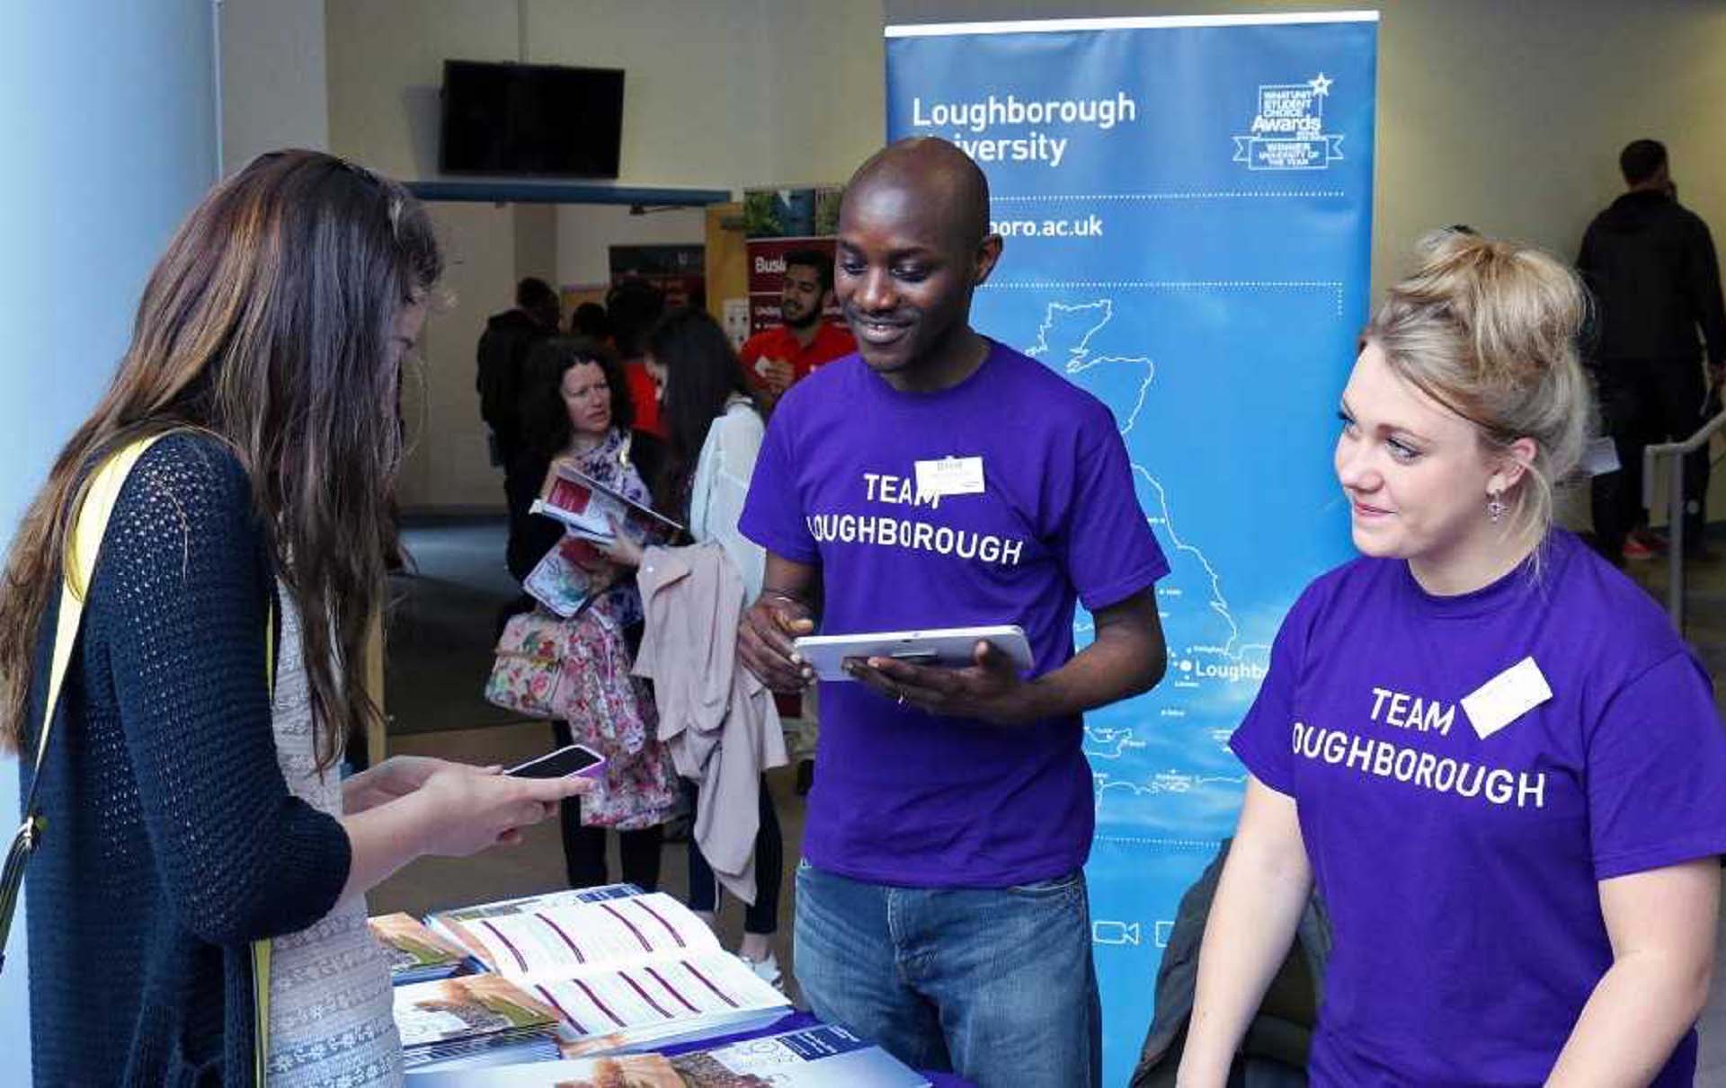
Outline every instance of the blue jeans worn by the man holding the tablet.
POLYGON ((979 1088, 1096 1088, 1101 1007, 1084 872, 892 888, 797 866, 797 983, 815 1016, 979 1088))

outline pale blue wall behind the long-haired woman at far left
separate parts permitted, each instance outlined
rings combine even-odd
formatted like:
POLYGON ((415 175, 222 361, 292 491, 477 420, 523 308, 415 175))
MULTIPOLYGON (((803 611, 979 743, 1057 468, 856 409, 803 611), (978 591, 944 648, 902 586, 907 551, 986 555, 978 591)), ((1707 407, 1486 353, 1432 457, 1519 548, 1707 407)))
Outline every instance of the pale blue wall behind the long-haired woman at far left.
MULTIPOLYGON (((216 179, 211 0, 7 5, 0 34, 0 541, 126 350, 145 276, 216 179)), ((12 836, 17 766, 0 760, 12 836)), ((0 976, 0 1064, 29 1057, 28 955, 0 976)), ((17 1081, 14 1079, 17 1078, 17 1081)))

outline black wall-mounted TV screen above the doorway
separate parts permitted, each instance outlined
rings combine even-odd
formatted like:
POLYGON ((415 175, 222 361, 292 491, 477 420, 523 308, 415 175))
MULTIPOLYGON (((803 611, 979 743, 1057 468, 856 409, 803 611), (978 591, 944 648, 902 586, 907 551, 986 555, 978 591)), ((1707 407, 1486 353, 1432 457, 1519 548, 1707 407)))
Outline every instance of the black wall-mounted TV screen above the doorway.
POLYGON ((623 69, 444 62, 445 174, 616 178, 623 69))

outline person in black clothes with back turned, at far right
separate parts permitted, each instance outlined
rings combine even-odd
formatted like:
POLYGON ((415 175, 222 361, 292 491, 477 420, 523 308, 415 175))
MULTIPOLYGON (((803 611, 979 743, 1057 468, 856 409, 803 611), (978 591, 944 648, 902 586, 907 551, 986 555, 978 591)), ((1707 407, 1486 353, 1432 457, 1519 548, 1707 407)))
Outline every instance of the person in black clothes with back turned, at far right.
MULTIPOLYGON (((1643 447, 1693 435, 1719 410, 1714 388, 1726 376, 1726 307, 1707 224, 1678 203, 1666 147, 1657 140, 1631 141, 1619 169, 1629 191, 1588 224, 1576 259, 1598 303, 1590 364, 1619 457, 1619 471, 1595 478, 1593 488, 1595 536, 1614 564, 1647 555, 1631 538, 1647 519, 1643 447), (1707 343, 1707 381, 1697 366, 1698 329, 1707 343)), ((1697 553, 1707 485, 1704 448, 1685 462, 1685 545, 1697 553)))

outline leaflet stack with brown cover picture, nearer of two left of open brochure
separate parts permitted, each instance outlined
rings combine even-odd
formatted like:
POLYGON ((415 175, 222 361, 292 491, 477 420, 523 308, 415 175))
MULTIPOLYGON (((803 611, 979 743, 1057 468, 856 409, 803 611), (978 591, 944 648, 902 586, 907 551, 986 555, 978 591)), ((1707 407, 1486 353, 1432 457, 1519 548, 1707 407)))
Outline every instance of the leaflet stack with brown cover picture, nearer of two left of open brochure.
POLYGON ((557 1016, 492 974, 468 974, 395 988, 402 1064, 450 1059, 535 1062, 557 1057, 557 1016))

